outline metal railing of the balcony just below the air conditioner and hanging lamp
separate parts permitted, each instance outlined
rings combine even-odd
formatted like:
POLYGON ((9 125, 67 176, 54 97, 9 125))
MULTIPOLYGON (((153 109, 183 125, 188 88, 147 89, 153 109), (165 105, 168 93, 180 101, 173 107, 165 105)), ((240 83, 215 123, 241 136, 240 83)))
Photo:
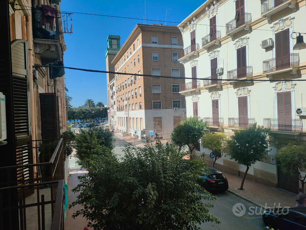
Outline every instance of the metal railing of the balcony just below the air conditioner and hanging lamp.
POLYGON ((281 57, 263 61, 263 72, 269 73, 284 68, 298 67, 300 65, 299 54, 287 54, 281 57))

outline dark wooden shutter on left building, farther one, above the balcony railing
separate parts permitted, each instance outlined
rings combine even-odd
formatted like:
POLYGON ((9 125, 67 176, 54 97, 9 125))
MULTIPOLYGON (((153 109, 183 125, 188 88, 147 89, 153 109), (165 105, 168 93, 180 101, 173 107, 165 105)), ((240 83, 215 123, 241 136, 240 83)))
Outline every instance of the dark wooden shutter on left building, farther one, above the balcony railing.
POLYGON ((42 139, 59 138, 56 93, 39 94, 42 139))

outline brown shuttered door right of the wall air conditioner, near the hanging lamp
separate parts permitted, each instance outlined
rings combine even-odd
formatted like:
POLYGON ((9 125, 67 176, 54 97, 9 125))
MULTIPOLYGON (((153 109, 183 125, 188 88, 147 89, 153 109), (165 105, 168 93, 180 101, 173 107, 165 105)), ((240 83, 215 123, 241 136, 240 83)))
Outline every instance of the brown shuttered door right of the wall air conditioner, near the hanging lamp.
POLYGON ((275 33, 276 70, 290 67, 289 29, 275 33))

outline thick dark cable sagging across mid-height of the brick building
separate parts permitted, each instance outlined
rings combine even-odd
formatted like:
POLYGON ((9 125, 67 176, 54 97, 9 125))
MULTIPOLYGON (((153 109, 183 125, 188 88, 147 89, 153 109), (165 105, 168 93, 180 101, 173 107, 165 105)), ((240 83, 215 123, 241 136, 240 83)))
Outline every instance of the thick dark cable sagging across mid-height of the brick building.
MULTIPOLYGON (((149 75, 149 74, 138 74, 138 73, 120 73, 120 72, 113 72, 113 71, 104 71, 104 70, 95 70, 95 69, 85 69, 85 68, 75 68, 75 67, 68 67, 68 66, 53 66, 53 65, 35 65, 36 67, 56 67, 56 68, 68 68, 68 69, 74 69, 74 70, 80 70, 80 71, 86 71, 86 72, 95 72, 95 73, 112 73, 112 74, 118 74, 118 75, 129 75, 129 76, 143 76, 143 77, 158 77, 158 78, 172 78, 172 79, 191 79, 191 80, 212 80, 212 81, 269 81, 269 82, 278 82, 279 80, 271 79, 219 79, 219 78, 192 78, 192 77, 172 77, 172 76, 156 76, 156 75, 149 75)), ((290 81, 306 81, 306 79, 292 79, 290 81)))

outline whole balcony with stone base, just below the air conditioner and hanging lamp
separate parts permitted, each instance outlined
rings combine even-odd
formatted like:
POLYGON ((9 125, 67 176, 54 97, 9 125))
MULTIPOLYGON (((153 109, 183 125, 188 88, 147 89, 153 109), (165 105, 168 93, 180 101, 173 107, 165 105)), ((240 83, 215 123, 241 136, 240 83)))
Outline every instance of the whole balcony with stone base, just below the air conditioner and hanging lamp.
POLYGON ((269 79, 273 79, 274 74, 290 72, 297 77, 299 66, 299 54, 288 54, 263 61, 263 75, 266 75, 269 79))

